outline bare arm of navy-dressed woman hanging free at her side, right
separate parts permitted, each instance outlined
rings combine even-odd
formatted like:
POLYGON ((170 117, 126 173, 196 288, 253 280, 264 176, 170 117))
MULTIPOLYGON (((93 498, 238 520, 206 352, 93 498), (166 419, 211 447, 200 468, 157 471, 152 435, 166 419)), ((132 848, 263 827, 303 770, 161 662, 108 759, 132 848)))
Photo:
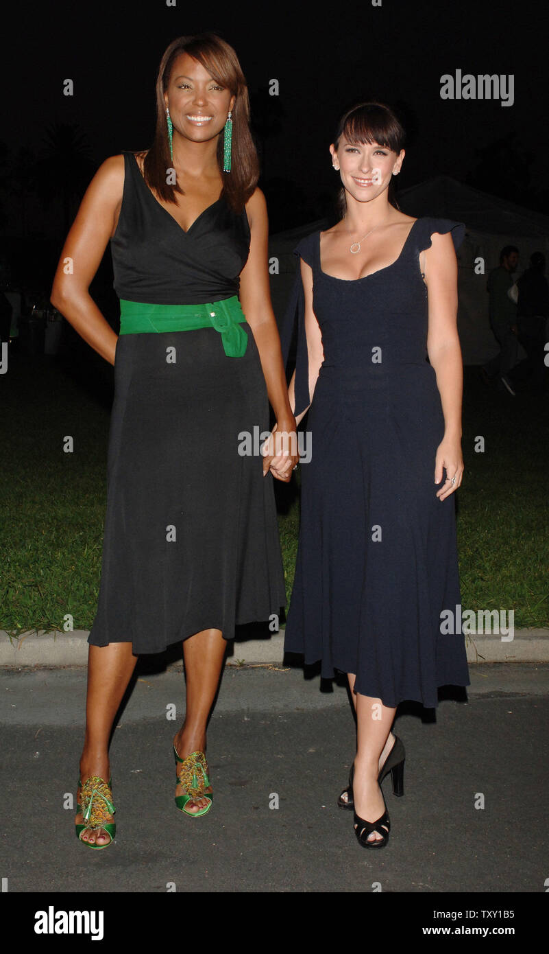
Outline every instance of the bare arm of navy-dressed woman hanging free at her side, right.
POLYGON ((446 469, 446 483, 437 490, 443 500, 456 490, 463 473, 461 455, 461 395, 463 365, 458 338, 458 261, 452 236, 432 236, 425 251, 425 282, 429 301, 427 353, 437 374, 437 387, 444 415, 444 437, 437 448, 435 483, 446 469), (456 477, 456 482, 450 479, 456 477))

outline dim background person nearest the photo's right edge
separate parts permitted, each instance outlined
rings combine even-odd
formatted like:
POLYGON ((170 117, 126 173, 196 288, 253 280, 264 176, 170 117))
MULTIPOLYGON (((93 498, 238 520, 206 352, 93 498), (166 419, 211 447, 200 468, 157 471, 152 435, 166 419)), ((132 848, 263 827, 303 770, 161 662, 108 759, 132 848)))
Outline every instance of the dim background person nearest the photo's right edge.
POLYGON ((541 252, 534 252, 530 256, 530 267, 517 281, 519 342, 527 355, 523 367, 536 394, 541 393, 543 386, 543 346, 546 341, 545 323, 549 316, 549 284, 544 271, 545 256, 541 252))

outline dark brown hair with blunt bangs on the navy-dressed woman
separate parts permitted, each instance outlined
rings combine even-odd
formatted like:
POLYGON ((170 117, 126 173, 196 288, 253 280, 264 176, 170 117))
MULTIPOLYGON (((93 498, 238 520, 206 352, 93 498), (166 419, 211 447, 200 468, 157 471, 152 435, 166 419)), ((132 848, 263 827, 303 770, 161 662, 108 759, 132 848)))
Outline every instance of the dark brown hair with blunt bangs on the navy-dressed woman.
MULTIPOLYGON (((339 140, 345 136, 348 142, 368 142, 370 144, 378 142, 385 149, 390 149, 393 153, 399 153, 404 148, 406 133, 400 124, 397 115, 385 103, 371 102, 358 103, 352 109, 348 110, 337 126, 334 146, 337 149, 339 140)), ((391 179, 387 198, 391 205, 400 211, 397 198, 395 197, 394 181, 391 179)), ((345 189, 340 189, 337 196, 337 212, 340 216, 345 214, 347 202, 345 199, 345 189)))

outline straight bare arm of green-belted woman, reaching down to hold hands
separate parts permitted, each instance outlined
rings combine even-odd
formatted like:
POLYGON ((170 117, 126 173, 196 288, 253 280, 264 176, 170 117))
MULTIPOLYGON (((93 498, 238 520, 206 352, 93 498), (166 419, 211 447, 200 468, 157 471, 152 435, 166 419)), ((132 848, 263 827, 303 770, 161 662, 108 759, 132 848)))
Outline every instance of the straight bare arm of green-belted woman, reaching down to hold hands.
MULTIPOLYGON (((275 411, 275 430, 281 434, 295 435, 295 419, 288 400, 282 349, 271 303, 267 267, 269 224, 265 197, 260 189, 255 189, 246 204, 246 211, 250 220, 250 255, 240 273, 240 303, 259 352, 269 401, 275 411)), ((265 457, 265 473, 273 465, 276 477, 290 478, 298 460, 296 435, 294 441, 295 446, 290 445, 290 449, 295 449, 295 454, 277 454, 276 457, 270 454, 265 457)))

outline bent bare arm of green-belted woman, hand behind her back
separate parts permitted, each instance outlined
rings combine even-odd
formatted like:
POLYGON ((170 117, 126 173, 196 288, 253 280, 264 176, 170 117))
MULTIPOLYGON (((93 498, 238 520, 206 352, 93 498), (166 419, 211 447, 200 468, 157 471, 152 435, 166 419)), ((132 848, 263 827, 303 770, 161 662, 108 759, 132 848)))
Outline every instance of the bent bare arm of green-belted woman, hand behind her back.
POLYGON ((91 179, 63 246, 51 288, 51 304, 111 364, 118 338, 88 289, 114 234, 123 190, 124 156, 111 156, 91 179))

